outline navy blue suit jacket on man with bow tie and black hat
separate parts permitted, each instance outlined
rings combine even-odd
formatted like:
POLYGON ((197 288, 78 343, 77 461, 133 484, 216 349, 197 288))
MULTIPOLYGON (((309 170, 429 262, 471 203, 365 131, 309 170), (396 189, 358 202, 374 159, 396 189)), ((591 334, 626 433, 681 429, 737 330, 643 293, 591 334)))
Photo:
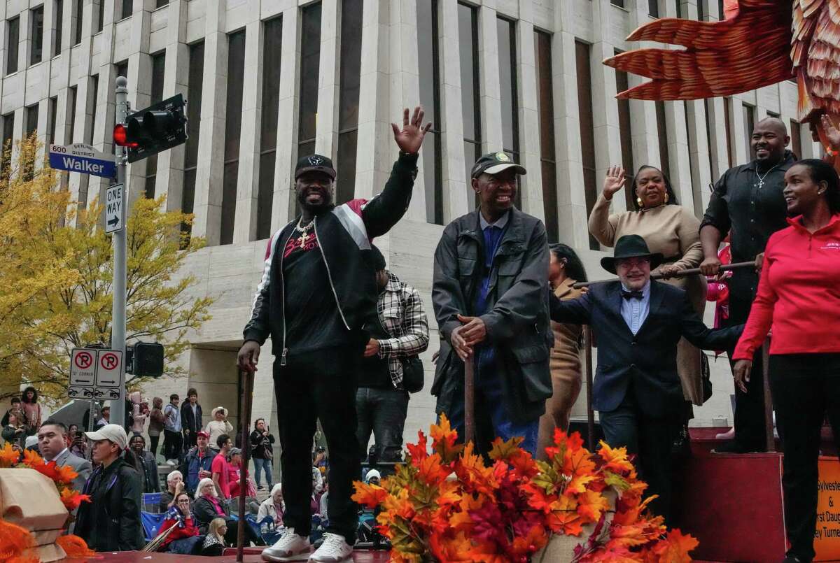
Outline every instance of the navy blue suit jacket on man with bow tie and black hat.
MULTIPOLYGON (((598 368, 592 406, 604 412, 617 409, 631 387, 643 414, 652 418, 676 416, 683 405, 677 375, 680 336, 706 350, 726 350, 741 336, 743 325, 710 329, 691 307, 685 291, 651 280, 650 312, 636 335, 622 318, 621 282, 592 284, 575 300, 551 295, 551 320, 590 325, 598 345, 598 368)), ((700 369, 700 366, 697 367, 700 369)))

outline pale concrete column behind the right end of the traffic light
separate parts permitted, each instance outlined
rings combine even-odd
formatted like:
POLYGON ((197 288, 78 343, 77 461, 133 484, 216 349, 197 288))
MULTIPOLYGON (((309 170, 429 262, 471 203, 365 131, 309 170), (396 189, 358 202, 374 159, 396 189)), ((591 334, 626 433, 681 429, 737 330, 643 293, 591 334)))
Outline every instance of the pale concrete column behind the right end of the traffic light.
MULTIPOLYGON (((186 44, 186 0, 171 0, 166 25, 166 66, 163 79, 164 99, 181 94, 186 96, 190 76, 190 50, 186 44)), ((134 17, 134 16, 132 16, 134 17)), ((180 144, 158 154, 155 192, 166 196, 166 211, 181 209, 184 191, 184 149, 180 144)))

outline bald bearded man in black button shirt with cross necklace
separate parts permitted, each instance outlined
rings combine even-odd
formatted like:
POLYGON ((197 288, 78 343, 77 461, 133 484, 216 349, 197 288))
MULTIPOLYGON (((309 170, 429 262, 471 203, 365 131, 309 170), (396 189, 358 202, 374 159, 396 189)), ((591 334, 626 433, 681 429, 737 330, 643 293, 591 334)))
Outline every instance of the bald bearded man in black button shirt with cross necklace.
MULTIPOLYGON (((700 227, 705 255, 700 266, 703 274, 717 275, 720 271, 717 249, 727 232, 732 263, 755 260, 756 268, 761 268, 764 246, 770 235, 787 227, 787 206, 782 190, 785 189, 785 172, 796 160, 795 154, 785 149, 788 143, 790 137, 784 122, 777 117, 762 119, 756 124, 750 140, 755 159, 728 169, 717 180, 700 227)), ((728 285, 727 326, 743 324, 753 305, 759 276, 751 268, 739 269, 732 273, 728 285)), ((728 352, 732 358, 732 350, 728 352)), ((735 387, 735 440, 718 447, 718 452, 766 449, 761 361, 761 352, 758 352, 753 358, 747 393, 735 387)))

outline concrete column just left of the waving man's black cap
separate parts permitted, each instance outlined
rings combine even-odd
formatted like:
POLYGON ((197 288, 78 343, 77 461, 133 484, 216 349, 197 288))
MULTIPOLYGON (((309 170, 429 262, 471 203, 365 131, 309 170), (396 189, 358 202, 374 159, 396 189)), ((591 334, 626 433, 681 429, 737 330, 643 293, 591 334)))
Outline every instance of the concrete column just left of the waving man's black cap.
POLYGON ((274 162, 274 195, 271 231, 281 228, 295 212, 292 175, 297 155, 297 107, 300 74, 300 8, 283 10, 283 56, 280 61, 280 100, 277 112, 277 155, 274 162))

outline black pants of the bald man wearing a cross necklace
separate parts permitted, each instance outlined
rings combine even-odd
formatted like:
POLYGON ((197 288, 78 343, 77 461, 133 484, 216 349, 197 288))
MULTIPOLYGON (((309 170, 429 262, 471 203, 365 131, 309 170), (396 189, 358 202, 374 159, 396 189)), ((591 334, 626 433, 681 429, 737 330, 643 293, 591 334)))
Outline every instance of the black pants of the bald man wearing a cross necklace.
MULTIPOLYGON (((751 300, 729 298, 729 319, 727 326, 747 322, 751 300)), ((727 350, 730 368, 732 350, 727 350)), ((745 451, 767 451, 767 437, 764 433, 764 359, 761 349, 753 356, 753 369, 746 382, 747 393, 735 386, 735 442, 745 451)))

